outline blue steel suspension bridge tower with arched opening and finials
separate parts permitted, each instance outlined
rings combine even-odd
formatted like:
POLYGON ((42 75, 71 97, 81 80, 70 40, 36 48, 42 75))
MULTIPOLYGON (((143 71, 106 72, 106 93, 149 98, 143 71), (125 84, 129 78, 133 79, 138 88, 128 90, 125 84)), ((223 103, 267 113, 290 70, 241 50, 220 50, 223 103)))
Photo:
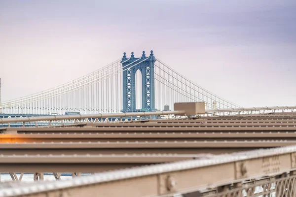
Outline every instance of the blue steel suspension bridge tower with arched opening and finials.
POLYGON ((155 111, 154 63, 153 51, 146 57, 143 51, 141 58, 135 58, 134 52, 130 59, 123 53, 123 109, 122 112, 155 111), (136 81, 137 70, 142 73, 142 109, 136 109, 136 81))

